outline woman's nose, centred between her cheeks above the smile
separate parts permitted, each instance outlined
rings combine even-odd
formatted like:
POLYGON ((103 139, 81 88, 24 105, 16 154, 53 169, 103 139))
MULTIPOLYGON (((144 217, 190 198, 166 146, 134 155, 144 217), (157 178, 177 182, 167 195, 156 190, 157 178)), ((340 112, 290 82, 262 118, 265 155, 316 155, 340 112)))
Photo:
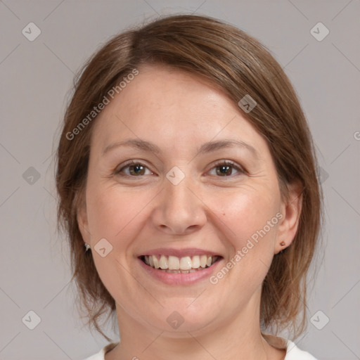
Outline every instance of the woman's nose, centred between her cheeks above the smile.
POLYGON ((153 210, 153 224, 171 235, 186 235, 201 229, 207 221, 206 205, 193 181, 187 176, 174 185, 165 179, 153 210))

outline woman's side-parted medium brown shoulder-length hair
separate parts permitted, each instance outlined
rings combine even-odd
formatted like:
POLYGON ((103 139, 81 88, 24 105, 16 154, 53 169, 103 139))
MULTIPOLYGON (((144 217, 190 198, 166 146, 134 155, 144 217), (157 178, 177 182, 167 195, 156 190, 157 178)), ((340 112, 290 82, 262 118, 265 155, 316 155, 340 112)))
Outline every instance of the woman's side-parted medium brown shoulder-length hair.
POLYGON ((288 248, 274 256, 262 284, 261 326, 275 326, 276 332, 291 328, 296 338, 306 326, 307 272, 321 229, 322 192, 311 134, 293 86, 269 50, 236 27, 198 15, 172 15, 122 32, 79 71, 65 113, 56 173, 58 229, 64 229, 70 241, 79 310, 85 311, 88 325, 110 340, 99 319, 109 311, 109 316, 114 314, 115 300, 98 276, 91 251, 84 252, 77 223, 96 118, 86 122, 73 139, 67 134, 124 76, 147 64, 169 65, 206 77, 234 103, 245 95, 255 99, 255 108, 243 115, 269 146, 282 198, 288 199, 288 185, 293 181, 302 186, 296 236, 288 248))

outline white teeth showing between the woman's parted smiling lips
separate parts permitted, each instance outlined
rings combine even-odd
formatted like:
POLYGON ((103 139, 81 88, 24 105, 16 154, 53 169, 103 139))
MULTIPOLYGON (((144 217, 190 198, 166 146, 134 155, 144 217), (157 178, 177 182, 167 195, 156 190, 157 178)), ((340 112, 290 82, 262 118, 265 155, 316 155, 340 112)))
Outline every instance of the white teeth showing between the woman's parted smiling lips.
POLYGON ((195 255, 193 257, 143 255, 139 257, 142 262, 153 269, 172 274, 189 274, 202 271, 218 262, 221 258, 221 256, 212 255, 195 255))

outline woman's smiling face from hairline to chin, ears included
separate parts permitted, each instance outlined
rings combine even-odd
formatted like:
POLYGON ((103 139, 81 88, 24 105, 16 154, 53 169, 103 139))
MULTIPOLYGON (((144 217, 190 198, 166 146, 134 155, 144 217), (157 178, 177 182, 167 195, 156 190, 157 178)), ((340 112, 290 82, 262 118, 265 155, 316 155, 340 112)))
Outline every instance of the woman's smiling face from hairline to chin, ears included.
POLYGON ((118 317, 174 336, 176 321, 183 332, 256 321, 271 260, 296 231, 266 141, 238 106, 155 66, 96 120, 85 200, 80 229, 118 317))

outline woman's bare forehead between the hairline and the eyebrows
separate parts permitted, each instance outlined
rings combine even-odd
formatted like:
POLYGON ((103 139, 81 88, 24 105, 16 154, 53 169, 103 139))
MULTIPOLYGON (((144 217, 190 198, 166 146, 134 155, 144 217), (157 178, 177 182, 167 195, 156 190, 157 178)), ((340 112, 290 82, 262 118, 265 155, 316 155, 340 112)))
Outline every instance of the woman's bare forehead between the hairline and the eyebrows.
POLYGON ((259 134, 236 103, 209 80, 169 67, 144 66, 96 120, 94 143, 121 137, 166 145, 238 135, 256 146, 259 134))

